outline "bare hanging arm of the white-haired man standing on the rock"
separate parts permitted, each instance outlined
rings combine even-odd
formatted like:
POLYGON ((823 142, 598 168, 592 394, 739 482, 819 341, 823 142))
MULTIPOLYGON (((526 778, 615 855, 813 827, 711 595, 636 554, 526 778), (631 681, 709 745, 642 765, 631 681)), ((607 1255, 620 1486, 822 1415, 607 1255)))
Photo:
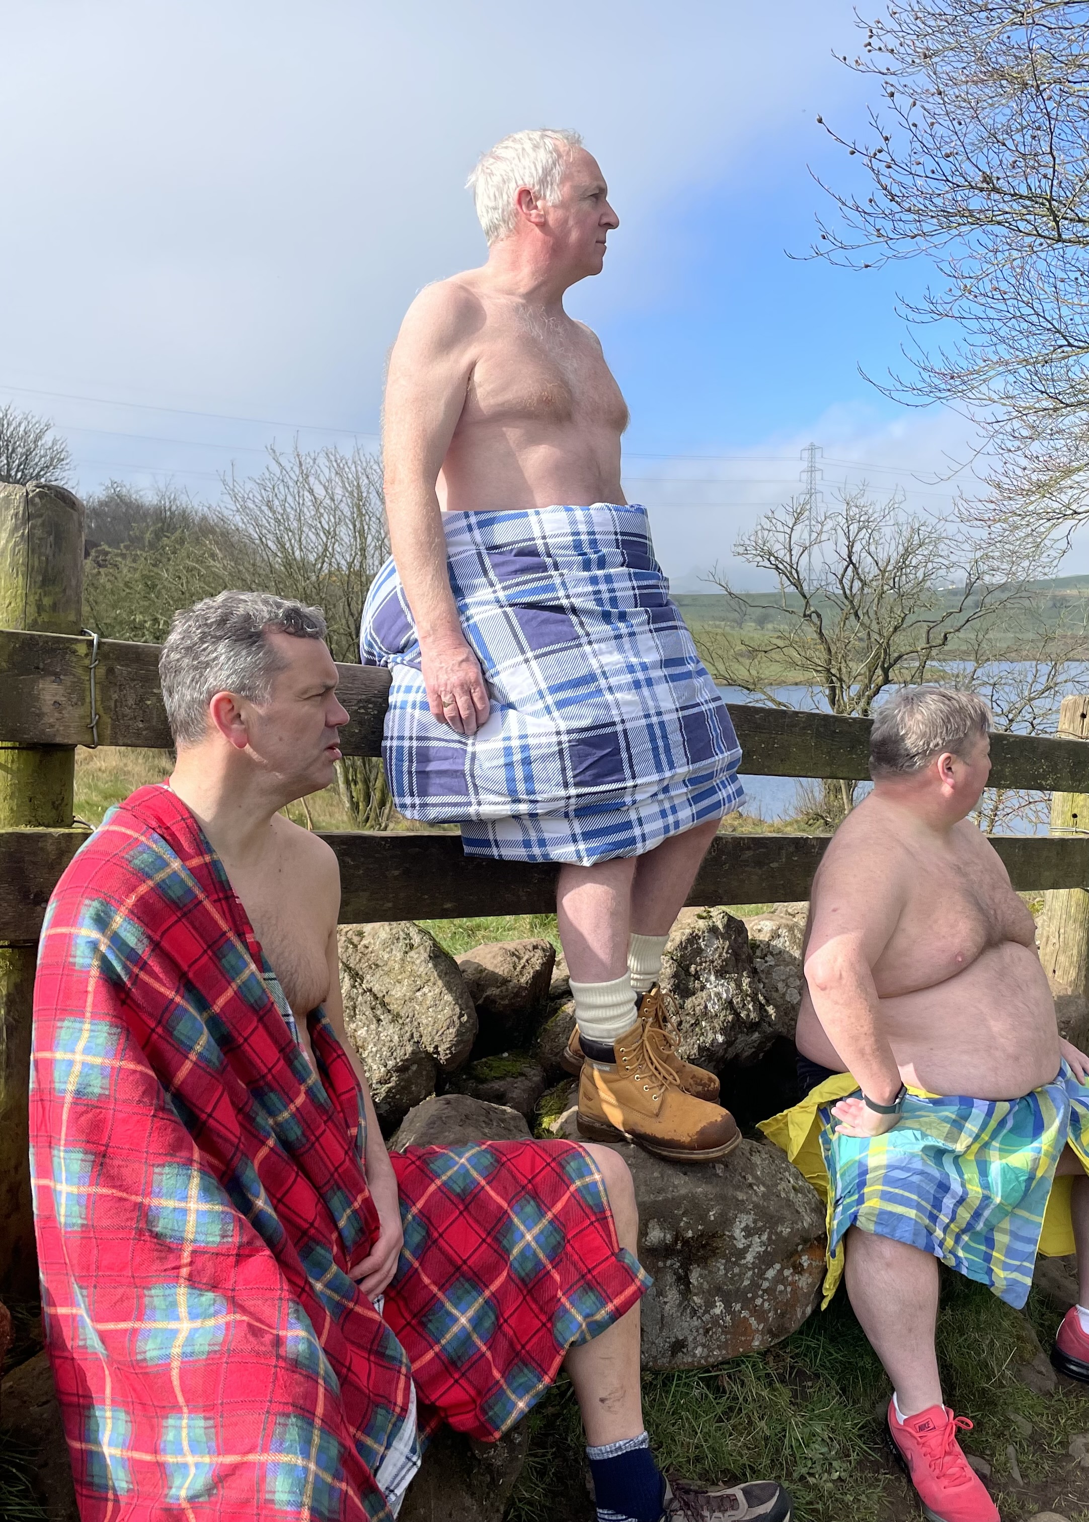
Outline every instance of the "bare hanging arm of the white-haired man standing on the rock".
POLYGON ((479 303, 452 282, 421 291, 389 355, 383 454, 389 543, 420 638, 435 718, 471 735, 488 691, 450 591, 435 482, 465 405, 479 303))

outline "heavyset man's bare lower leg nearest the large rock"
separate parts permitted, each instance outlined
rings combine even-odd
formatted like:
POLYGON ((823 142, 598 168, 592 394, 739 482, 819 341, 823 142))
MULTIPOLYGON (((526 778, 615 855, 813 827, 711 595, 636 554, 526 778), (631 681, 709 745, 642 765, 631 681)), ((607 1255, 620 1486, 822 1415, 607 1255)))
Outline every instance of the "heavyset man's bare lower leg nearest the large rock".
POLYGON ((917 1247, 852 1227, 846 1280, 855 1315, 893 1380, 900 1415, 940 1406, 941 1380, 934 1352, 937 1259, 917 1247))

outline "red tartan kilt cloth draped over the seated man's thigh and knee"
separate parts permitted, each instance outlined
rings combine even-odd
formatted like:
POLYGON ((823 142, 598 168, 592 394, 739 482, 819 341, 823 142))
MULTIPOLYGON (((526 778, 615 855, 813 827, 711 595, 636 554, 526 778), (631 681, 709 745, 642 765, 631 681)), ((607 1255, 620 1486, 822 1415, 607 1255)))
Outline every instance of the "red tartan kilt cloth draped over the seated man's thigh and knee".
POLYGON ((392 1163, 405 1247, 385 1317, 412 1359, 421 1422, 441 1414, 478 1432, 484 1417, 505 1432, 566 1350, 604 1332, 651 1280, 618 1247, 601 1173, 579 1146, 409 1148, 392 1163))

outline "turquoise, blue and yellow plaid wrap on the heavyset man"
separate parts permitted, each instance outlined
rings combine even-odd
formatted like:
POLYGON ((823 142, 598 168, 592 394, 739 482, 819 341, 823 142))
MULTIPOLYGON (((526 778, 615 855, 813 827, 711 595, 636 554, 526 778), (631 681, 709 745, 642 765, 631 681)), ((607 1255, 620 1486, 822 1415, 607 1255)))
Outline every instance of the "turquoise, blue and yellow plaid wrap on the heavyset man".
POLYGON ((760 1123, 827 1201, 824 1304, 855 1225, 932 1253, 1024 1306, 1059 1157, 1069 1142, 1089 1163, 1089 1087, 1063 1062, 1054 1082, 1022 1099, 910 1090, 891 1131, 837 1135, 832 1105, 858 1091, 850 1073, 837 1073, 760 1123))

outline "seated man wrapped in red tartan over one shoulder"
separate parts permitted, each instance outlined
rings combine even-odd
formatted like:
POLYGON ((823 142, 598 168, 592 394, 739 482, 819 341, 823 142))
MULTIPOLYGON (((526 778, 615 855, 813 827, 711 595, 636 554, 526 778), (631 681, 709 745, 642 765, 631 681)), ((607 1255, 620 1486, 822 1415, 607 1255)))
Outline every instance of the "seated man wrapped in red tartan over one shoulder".
POLYGON ((791 1516, 666 1484, 639 1394, 637 1218, 607 1146, 389 1157, 344 1035, 336 857, 284 804, 339 758, 316 609, 178 613, 169 782, 50 900, 32 1172, 84 1522, 388 1519, 441 1422, 494 1440, 566 1367, 598 1516, 791 1516))

